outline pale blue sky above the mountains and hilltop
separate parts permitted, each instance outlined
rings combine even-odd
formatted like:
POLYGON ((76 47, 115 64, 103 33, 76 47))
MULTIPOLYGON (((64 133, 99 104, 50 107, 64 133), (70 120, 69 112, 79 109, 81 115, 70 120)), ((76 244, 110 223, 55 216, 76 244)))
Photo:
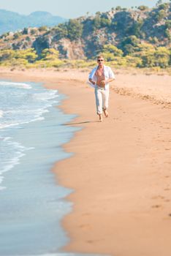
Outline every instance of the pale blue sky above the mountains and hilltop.
MULTIPOLYGON (((163 2, 169 0, 163 0, 163 2)), ((82 15, 93 15, 96 12, 107 12, 112 7, 154 7, 157 0, 0 0, 0 9, 28 15, 35 11, 46 11, 63 18, 78 18, 82 15)))

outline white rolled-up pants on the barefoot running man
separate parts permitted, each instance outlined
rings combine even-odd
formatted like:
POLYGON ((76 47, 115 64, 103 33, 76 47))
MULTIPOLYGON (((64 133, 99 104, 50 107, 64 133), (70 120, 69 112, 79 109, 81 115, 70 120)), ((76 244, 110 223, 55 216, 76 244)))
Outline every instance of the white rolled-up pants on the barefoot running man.
POLYGON ((109 89, 96 86, 94 92, 96 97, 96 113, 102 114, 103 109, 107 109, 109 105, 109 89))

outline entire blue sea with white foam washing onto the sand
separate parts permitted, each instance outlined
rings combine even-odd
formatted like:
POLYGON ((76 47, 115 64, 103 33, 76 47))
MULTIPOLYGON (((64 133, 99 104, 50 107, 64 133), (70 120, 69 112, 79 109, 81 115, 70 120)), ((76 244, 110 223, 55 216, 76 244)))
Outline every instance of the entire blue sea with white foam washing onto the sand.
POLYGON ((75 115, 58 108, 64 95, 39 83, 0 80, 0 255, 64 253, 69 242, 61 219, 72 211, 52 172, 72 157, 62 145, 80 129, 66 124, 75 115))

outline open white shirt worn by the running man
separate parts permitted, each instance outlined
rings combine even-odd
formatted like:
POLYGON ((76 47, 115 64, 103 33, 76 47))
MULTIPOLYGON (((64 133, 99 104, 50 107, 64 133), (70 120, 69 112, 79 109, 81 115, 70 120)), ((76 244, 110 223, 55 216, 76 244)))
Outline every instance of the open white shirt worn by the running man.
MULTIPOLYGON (((96 69, 98 69, 98 67, 99 66, 94 67, 94 69, 90 72, 90 74, 88 76, 88 79, 92 79, 95 83, 96 83, 96 75, 95 74, 96 74, 96 69)), ((113 70, 110 67, 105 66, 105 65, 103 67, 104 67, 104 78, 105 78, 105 80, 110 79, 110 78, 115 79, 115 75, 113 73, 113 70)), ((92 83, 91 83, 91 86, 93 86, 92 83)), ((95 88, 96 86, 93 86, 93 87, 95 88)), ((104 88, 108 89, 109 88, 109 83, 106 83, 104 88)))

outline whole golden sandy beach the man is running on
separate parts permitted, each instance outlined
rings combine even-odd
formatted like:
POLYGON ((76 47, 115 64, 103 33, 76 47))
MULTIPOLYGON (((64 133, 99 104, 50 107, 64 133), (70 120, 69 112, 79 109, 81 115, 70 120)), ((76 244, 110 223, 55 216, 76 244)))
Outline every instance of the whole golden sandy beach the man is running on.
POLYGON ((38 81, 66 94, 60 108, 77 115, 67 125, 83 127, 64 146, 74 156, 52 170, 59 184, 74 189, 64 251, 170 256, 171 78, 115 73, 110 116, 100 123, 88 70, 0 69, 1 79, 38 81))

